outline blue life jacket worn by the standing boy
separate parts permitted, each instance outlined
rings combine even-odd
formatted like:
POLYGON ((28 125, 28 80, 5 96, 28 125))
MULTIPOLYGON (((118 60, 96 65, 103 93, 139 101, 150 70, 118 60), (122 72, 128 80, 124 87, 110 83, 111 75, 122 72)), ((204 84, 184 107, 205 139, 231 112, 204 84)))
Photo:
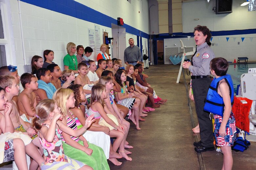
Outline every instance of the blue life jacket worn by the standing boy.
POLYGON ((225 81, 227 82, 227 85, 229 87, 231 105, 233 105, 234 103, 233 81, 231 79, 231 76, 229 74, 226 74, 224 76, 221 76, 219 78, 214 78, 212 80, 212 83, 210 84, 210 87, 206 96, 205 105, 203 107, 204 111, 213 113, 215 115, 220 115, 220 116, 223 116, 224 106, 225 106, 223 98, 218 94, 219 82, 222 79, 225 79, 225 81))

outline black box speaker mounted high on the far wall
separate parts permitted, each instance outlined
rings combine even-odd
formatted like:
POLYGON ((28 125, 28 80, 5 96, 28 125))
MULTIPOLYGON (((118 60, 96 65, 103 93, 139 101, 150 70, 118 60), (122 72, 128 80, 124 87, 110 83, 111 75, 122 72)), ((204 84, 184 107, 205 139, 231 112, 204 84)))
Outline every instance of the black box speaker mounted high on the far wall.
POLYGON ((216 14, 231 13, 232 0, 216 0, 216 14))

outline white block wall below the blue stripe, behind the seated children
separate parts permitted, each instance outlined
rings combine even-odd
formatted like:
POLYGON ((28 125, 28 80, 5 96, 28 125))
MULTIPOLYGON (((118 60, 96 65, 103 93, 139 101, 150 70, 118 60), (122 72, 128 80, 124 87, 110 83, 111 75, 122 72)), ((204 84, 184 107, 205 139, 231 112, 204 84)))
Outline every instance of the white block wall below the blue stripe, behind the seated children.
MULTIPOLYGON (((11 18, 13 35, 15 41, 16 65, 19 74, 24 73, 24 62, 22 52, 21 30, 18 14, 17 0, 11 0, 11 18)), ((66 45, 74 42, 76 45, 89 46, 88 29, 94 29, 94 23, 87 22, 75 17, 64 15, 55 11, 50 11, 31 4, 20 2, 22 13, 22 25, 25 43, 26 63, 31 63, 33 55, 43 57, 44 50, 53 50, 54 62, 64 69, 63 57, 67 54, 66 45)), ((111 28, 100 26, 102 30, 109 32, 111 28)), ((101 36, 101 43, 103 38, 101 36)), ((112 53, 110 51, 110 53, 112 53)), ((90 59, 95 60, 96 54, 93 53, 90 59)), ((14 63, 15 64, 15 63, 14 63)))

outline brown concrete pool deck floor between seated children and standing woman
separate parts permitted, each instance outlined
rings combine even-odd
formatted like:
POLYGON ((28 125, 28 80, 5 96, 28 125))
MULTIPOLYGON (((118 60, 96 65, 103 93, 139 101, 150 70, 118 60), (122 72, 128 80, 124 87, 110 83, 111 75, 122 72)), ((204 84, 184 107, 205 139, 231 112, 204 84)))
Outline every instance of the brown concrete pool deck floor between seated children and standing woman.
MULTIPOLYGON (((141 130, 135 129, 131 122, 127 141, 134 146, 127 149, 132 152, 132 161, 118 159, 122 165, 109 162, 111 170, 216 170, 222 168, 223 155, 208 151, 197 154, 193 142, 199 138, 192 132, 197 125, 195 106, 191 102, 192 119, 188 105, 187 89, 181 74, 180 83, 176 83, 180 65, 156 65, 145 69, 149 75, 147 81, 158 96, 168 99, 167 103, 150 112, 146 121, 139 122, 141 130), (193 125, 192 125, 193 122, 193 125)), ((189 88, 190 76, 185 80, 189 88)), ((249 149, 242 152, 232 151, 233 169, 255 169, 256 142, 251 142, 249 149)), ((1 167, 0 167, 1 169, 1 167)), ((5 169, 5 168, 3 168, 5 169)))

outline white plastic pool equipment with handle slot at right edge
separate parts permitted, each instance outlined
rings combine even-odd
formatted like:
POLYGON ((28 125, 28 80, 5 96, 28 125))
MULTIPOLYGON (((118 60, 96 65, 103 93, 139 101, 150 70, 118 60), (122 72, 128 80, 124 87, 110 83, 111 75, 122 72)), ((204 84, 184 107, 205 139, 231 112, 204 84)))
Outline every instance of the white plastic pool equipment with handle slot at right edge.
POLYGON ((248 73, 241 75, 241 92, 242 96, 253 100, 249 114, 249 133, 256 135, 256 68, 248 69, 248 73))

